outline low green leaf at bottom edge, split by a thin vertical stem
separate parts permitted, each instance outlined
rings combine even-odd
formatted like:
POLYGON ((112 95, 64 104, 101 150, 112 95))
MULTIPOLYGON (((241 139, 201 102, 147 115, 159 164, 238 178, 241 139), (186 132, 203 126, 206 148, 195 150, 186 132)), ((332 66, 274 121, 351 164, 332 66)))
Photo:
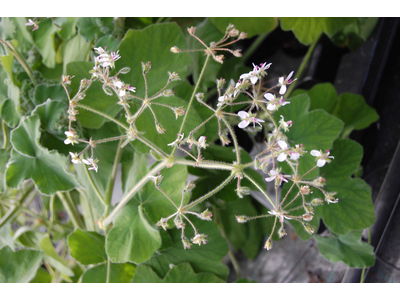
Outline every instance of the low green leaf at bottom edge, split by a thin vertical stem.
MULTIPOLYGON (((110 283, 128 283, 135 274, 136 267, 130 263, 110 265, 110 283)), ((88 269, 82 275, 82 283, 106 283, 107 263, 88 269)))

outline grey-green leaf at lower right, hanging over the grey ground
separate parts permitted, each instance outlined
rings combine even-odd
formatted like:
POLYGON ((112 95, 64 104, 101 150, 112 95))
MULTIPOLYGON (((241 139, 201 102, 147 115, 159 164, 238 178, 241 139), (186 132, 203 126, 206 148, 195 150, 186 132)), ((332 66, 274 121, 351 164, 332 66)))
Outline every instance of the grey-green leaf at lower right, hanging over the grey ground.
POLYGON ((350 268, 363 268, 374 265, 374 249, 363 243, 361 231, 350 231, 346 235, 332 237, 316 236, 321 254, 334 263, 343 261, 350 268))

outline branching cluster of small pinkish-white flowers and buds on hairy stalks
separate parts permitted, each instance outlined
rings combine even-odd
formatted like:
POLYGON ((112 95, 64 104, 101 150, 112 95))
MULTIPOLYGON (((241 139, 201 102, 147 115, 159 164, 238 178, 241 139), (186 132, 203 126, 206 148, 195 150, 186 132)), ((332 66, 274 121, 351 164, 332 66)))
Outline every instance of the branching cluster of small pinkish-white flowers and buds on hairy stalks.
MULTIPOLYGON (((240 33, 233 25, 229 25, 226 32, 221 40, 218 42, 212 42, 210 45, 206 45, 200 37, 198 37, 195 32, 194 27, 188 28, 189 34, 194 37, 199 43, 204 47, 204 49, 199 50, 182 50, 178 49, 176 46, 172 47, 170 50, 173 53, 181 53, 185 51, 203 51, 206 54, 206 62, 203 68, 207 65, 208 59, 211 57, 219 63, 223 63, 224 56, 218 54, 220 51, 226 51, 233 54, 236 57, 240 57, 240 50, 230 50, 227 46, 243 39, 246 34, 240 33), (234 40, 230 40, 233 38, 234 40)), ((242 179, 247 178, 252 182, 267 198, 271 203, 272 209, 268 211, 267 214, 261 216, 236 216, 236 220, 239 223, 246 223, 250 220, 257 218, 274 218, 274 225, 271 233, 265 243, 265 248, 267 250, 272 247, 272 235, 277 230, 279 237, 286 235, 284 224, 285 220, 294 220, 300 222, 304 229, 310 233, 314 233, 314 228, 312 228, 308 222, 313 219, 314 208, 317 205, 323 204, 324 200, 329 203, 336 203, 338 199, 335 198, 335 192, 328 192, 324 190, 324 185, 326 180, 323 177, 317 177, 313 180, 306 180, 305 176, 308 175, 316 168, 322 168, 326 163, 330 163, 334 158, 330 156, 329 150, 313 149, 307 154, 303 144, 291 145, 286 132, 290 131, 292 126, 296 126, 291 120, 285 120, 285 118, 280 115, 279 122, 276 122, 273 118, 274 113, 279 113, 279 109, 282 106, 290 105, 290 102, 285 99, 285 94, 287 92, 287 86, 292 84, 295 79, 292 79, 293 71, 289 75, 279 77, 276 80, 276 84, 270 88, 264 86, 264 78, 268 75, 267 70, 271 67, 271 63, 260 63, 254 64, 253 69, 248 73, 244 73, 239 76, 236 83, 231 83, 224 89, 225 80, 218 79, 216 81, 217 91, 218 91, 218 102, 215 106, 212 106, 204 101, 204 94, 198 93, 195 88, 192 98, 189 101, 187 108, 185 107, 173 107, 165 103, 157 103, 154 101, 159 97, 168 97, 173 95, 173 91, 167 89, 169 84, 173 81, 180 80, 179 75, 175 72, 168 72, 168 80, 160 91, 152 96, 148 95, 148 86, 146 80, 146 74, 151 70, 150 62, 142 62, 142 76, 145 83, 145 97, 141 98, 135 95, 136 89, 130 83, 125 83, 119 79, 119 74, 126 74, 130 71, 128 67, 123 67, 115 75, 111 76, 110 70, 115 68, 115 62, 120 59, 119 52, 107 51, 106 48, 98 47, 94 48, 97 56, 94 59, 95 65, 90 71, 91 78, 83 79, 80 83, 79 90, 77 94, 71 99, 66 88, 66 85, 71 83, 71 76, 63 76, 63 86, 67 92, 69 99, 69 127, 68 131, 65 132, 66 139, 65 144, 77 144, 84 143, 86 147, 79 153, 70 152, 71 161, 74 164, 84 163, 88 165, 89 170, 98 172, 100 163, 98 159, 94 157, 93 149, 100 143, 120 141, 120 147, 124 147, 128 143, 134 140, 139 140, 146 146, 152 149, 152 152, 158 160, 163 161, 164 165, 167 167, 172 166, 174 163, 178 163, 175 159, 175 152, 177 149, 182 151, 189 157, 190 160, 185 160, 186 165, 191 165, 193 167, 209 168, 209 169, 225 169, 230 170, 231 174, 224 180, 219 186, 217 186, 213 191, 206 193, 204 196, 192 201, 189 204, 184 205, 184 198, 186 193, 190 193, 194 188, 193 183, 189 183, 184 190, 182 190, 182 197, 180 200, 171 199, 171 197, 163 191, 160 187, 163 176, 161 172, 157 175, 146 176, 145 180, 152 180, 154 182, 155 188, 162 193, 165 198, 174 207, 175 212, 169 216, 162 217, 156 225, 167 230, 170 225, 181 230, 181 240, 184 249, 190 249, 192 244, 205 245, 207 243, 207 234, 201 233, 195 227, 193 222, 188 216, 193 215, 201 220, 211 221, 212 213, 206 209, 205 211, 199 213, 198 211, 193 211, 192 208, 203 202, 205 199, 211 195, 217 193, 220 189, 225 187, 230 181, 236 180, 237 188, 236 193, 239 198, 243 198, 244 195, 250 193, 250 188, 242 186, 242 179), (102 83, 103 91, 108 95, 116 95, 118 97, 118 102, 116 105, 122 107, 122 111, 125 113, 125 123, 120 121, 116 122, 120 127, 125 130, 125 134, 121 136, 110 137, 102 140, 85 140, 80 137, 80 134, 74 129, 73 122, 76 121, 76 115, 79 114, 79 109, 91 110, 91 108, 86 107, 79 103, 85 97, 85 93, 94 81, 99 81, 102 83), (238 100, 239 96, 243 94, 246 100, 238 100), (187 118, 187 110, 190 109, 192 101, 196 99, 201 105, 205 106, 210 110, 211 116, 204 120, 201 124, 193 128, 189 134, 185 136, 183 133, 183 126, 187 118), (141 106, 135 111, 130 110, 130 101, 135 100, 141 102, 141 106), (168 146, 171 147, 171 153, 168 155, 162 150, 160 150, 156 145, 147 141, 142 132, 139 132, 136 128, 135 122, 137 118, 143 113, 145 109, 149 109, 153 115, 154 126, 159 134, 165 132, 165 128, 160 124, 158 118, 152 108, 153 105, 162 105, 171 109, 175 117, 183 116, 182 126, 180 132, 177 133, 177 138, 171 141, 168 146), (240 105, 241 110, 237 113, 232 113, 232 106, 240 105), (244 107, 244 108, 243 108, 244 107), (202 157, 202 151, 207 151, 208 143, 206 136, 200 136, 195 138, 194 134, 197 130, 202 128, 207 122, 215 118, 218 122, 218 136, 222 145, 228 145, 233 143, 236 153, 236 161, 232 164, 221 164, 215 161, 207 161, 202 157), (235 119, 236 124, 242 130, 254 131, 258 128, 262 128, 264 123, 272 124, 273 129, 267 136, 265 141, 265 149, 262 150, 254 159, 251 164, 241 163, 240 148, 236 139, 235 132, 232 128, 232 124, 228 122, 235 119), (230 138, 228 137, 230 135, 230 138), (194 147, 193 147, 194 146, 194 147), (90 151, 89 151, 90 150, 90 151), (88 154, 89 153, 89 154, 88 154), (299 173, 300 158, 304 155, 312 155, 315 157, 315 165, 307 172, 299 173), (292 170, 291 174, 285 174, 282 171, 282 166, 287 164, 292 170), (258 185, 248 174, 246 173, 246 168, 254 165, 255 169, 260 170, 267 174, 266 181, 273 182, 275 185, 275 201, 273 201, 270 196, 266 193, 265 187, 258 185), (289 184, 290 188, 286 195, 283 195, 282 199, 279 198, 279 189, 282 184, 289 184), (297 187, 298 193, 291 196, 291 191, 297 187), (320 190, 325 199, 313 198, 313 190, 320 190), (296 201, 299 200, 299 201, 296 201), (179 203, 180 204, 176 204, 179 203), (301 205, 294 206, 294 203, 301 203, 301 205), (292 205, 293 204, 293 205, 292 205), (171 221, 170 221, 171 220, 171 221), (193 236, 187 237, 185 233, 185 228, 189 226, 193 229, 193 236), (279 225, 279 226, 278 226, 279 225), (279 228, 278 228, 279 227, 279 228)), ((203 69, 204 70, 204 69, 203 69)), ((199 79, 200 80, 200 79, 199 79)), ((101 165, 100 165, 101 167, 101 165)), ((155 173, 155 172, 154 172, 155 173)), ((125 200, 124 200, 125 201, 125 200)), ((124 202, 121 201, 121 202, 124 202)), ((124 203, 129 201, 126 199, 124 203)), ((105 227, 112 221, 112 216, 116 214, 116 211, 122 207, 123 204, 119 206, 110 214, 105 220, 100 221, 100 224, 105 224, 105 227)))

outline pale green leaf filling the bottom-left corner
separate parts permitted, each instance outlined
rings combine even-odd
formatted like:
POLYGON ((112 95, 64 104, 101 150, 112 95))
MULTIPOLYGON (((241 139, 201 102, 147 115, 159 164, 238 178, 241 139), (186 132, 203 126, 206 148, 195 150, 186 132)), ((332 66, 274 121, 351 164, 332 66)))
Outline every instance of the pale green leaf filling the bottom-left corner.
POLYGON ((0 282, 24 283, 35 277, 42 263, 43 253, 23 249, 12 251, 8 246, 0 250, 0 282))

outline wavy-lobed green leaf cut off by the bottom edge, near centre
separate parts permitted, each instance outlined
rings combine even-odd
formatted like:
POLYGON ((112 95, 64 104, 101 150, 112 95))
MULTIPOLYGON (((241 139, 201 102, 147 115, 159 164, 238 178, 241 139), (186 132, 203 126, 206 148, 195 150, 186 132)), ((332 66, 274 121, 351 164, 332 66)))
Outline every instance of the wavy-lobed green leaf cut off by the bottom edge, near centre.
POLYGON ((222 283, 221 278, 212 273, 196 274, 189 263, 182 263, 171 268, 161 280, 150 267, 140 265, 132 279, 134 283, 222 283))

